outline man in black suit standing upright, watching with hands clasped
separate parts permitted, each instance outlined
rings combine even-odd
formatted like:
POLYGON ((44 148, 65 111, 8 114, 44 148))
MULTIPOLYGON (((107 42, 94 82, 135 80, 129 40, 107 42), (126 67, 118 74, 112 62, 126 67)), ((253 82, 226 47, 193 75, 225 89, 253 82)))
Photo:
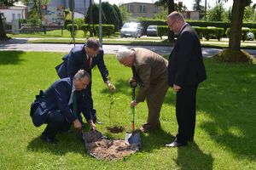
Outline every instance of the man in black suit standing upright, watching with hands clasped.
POLYGON ((174 11, 166 17, 167 25, 177 34, 177 42, 169 56, 168 82, 176 95, 178 132, 167 147, 178 147, 194 140, 195 100, 198 84, 207 79, 201 54, 201 43, 196 32, 174 11))

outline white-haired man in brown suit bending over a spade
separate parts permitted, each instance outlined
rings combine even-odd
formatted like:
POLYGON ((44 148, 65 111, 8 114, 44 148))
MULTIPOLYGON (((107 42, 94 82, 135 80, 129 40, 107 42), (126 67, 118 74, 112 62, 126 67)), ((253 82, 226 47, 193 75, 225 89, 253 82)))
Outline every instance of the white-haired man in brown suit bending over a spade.
POLYGON ((169 87, 168 61, 146 48, 120 48, 116 56, 121 65, 131 67, 130 83, 139 85, 137 99, 131 101, 131 108, 147 100, 148 122, 140 130, 144 133, 160 127, 160 110, 169 87))

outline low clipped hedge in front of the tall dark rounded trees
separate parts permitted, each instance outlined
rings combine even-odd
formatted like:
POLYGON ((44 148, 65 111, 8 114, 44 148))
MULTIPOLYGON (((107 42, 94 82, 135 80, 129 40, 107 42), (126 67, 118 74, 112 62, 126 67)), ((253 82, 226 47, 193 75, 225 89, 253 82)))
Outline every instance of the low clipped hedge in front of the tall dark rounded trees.
MULTIPOLYGON (((80 27, 77 24, 74 24, 74 33, 76 35, 78 30, 84 31, 84 37, 86 37, 86 34, 90 29, 93 29, 91 25, 88 24, 83 24, 80 27)), ((96 31, 96 35, 99 35, 99 25, 94 26, 94 30, 96 31)), ((71 36, 72 36, 72 24, 67 25, 67 31, 70 31, 71 36)), ((114 26, 113 25, 102 25, 102 37, 105 36, 111 36, 114 31, 114 26)))

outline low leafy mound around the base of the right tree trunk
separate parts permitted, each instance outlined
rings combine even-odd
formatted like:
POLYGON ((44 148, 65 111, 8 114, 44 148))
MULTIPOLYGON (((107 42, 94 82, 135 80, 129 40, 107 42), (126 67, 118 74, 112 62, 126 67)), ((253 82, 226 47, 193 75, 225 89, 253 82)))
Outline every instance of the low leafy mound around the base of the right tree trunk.
POLYGON ((231 49, 225 49, 218 54, 212 56, 213 59, 222 61, 222 62, 232 62, 232 63, 255 63, 253 56, 248 54, 243 50, 234 51, 231 49))

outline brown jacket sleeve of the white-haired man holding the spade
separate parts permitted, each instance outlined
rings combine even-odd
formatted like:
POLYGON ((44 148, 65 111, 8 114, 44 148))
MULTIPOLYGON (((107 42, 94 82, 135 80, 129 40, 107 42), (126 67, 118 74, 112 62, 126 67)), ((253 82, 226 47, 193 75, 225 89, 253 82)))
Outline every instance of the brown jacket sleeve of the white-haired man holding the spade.
POLYGON ((150 87, 150 73, 151 68, 149 65, 139 65, 136 69, 137 74, 141 77, 144 87, 140 87, 137 94, 137 101, 143 102, 148 94, 150 87))

